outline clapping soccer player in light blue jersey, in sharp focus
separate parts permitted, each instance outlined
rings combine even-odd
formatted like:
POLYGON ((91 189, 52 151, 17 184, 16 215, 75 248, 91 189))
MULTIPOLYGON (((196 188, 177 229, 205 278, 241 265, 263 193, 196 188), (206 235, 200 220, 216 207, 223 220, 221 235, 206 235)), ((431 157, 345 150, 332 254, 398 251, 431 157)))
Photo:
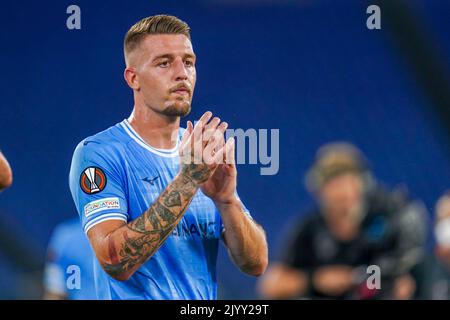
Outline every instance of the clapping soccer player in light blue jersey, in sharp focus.
POLYGON ((215 299, 220 239, 247 274, 261 275, 268 261, 264 230, 236 192, 234 140, 225 143, 227 123, 211 112, 180 129, 196 81, 185 22, 142 19, 124 54, 134 109, 83 140, 70 171, 98 298, 215 299))

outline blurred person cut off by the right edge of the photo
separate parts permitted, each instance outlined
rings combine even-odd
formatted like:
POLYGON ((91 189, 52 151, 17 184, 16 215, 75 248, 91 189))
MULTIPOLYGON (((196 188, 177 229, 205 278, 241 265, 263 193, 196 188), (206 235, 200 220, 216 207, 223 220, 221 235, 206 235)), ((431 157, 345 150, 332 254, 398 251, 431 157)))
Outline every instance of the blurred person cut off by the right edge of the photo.
POLYGON ((436 203, 435 256, 430 259, 428 295, 433 300, 450 299, 450 191, 436 203))

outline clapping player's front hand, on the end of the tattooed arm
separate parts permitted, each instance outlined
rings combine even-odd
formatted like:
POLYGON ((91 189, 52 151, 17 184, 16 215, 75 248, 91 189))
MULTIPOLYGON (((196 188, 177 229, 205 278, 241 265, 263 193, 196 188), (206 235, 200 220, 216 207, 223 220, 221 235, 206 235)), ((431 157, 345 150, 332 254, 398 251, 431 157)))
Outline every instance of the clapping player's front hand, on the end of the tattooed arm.
POLYGON ((224 133, 228 127, 219 118, 205 112, 192 125, 188 121, 180 145, 180 171, 197 185, 202 185, 214 174, 225 159, 224 133))

